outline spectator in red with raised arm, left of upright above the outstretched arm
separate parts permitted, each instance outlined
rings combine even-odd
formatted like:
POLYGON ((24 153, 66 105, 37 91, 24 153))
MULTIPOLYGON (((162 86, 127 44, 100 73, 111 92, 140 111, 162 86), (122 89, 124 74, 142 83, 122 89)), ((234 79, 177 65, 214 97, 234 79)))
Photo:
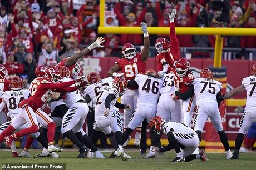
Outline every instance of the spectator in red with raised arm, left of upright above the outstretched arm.
POLYGON ((77 39, 78 44, 81 44, 82 39, 82 32, 86 29, 86 26, 88 23, 90 23, 93 20, 93 18, 89 18, 86 22, 83 22, 81 24, 78 23, 77 17, 71 17, 70 22, 73 26, 73 37, 77 39))

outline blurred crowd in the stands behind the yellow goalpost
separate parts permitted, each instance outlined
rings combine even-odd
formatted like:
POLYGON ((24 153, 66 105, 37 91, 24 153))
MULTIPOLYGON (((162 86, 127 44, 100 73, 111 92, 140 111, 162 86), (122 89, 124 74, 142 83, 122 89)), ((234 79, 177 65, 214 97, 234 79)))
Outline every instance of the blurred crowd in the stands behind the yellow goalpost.
MULTIPOLYGON (((177 0, 174 5, 160 0, 105 0, 105 26, 169 27, 168 13, 175 8, 176 27, 256 27, 256 0, 177 0)), ((0 63, 9 74, 35 78, 37 65, 55 66, 81 48, 106 40, 93 57, 121 57, 125 43, 143 44, 140 34, 99 35, 99 0, 2 0, 0 7, 0 63)), ((150 57, 155 41, 166 35, 150 35, 150 57)), ((169 37, 169 36, 167 36, 169 37)), ((211 58, 215 36, 179 35, 183 57, 211 58)), ((256 58, 255 36, 225 36, 225 59, 256 58)))

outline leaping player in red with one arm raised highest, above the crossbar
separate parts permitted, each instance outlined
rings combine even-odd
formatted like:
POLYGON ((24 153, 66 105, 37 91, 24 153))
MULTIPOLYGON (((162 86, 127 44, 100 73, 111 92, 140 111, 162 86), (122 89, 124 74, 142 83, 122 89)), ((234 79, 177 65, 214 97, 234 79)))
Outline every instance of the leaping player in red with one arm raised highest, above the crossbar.
POLYGON ((156 56, 157 68, 156 72, 160 77, 164 73, 170 73, 171 68, 175 66, 175 62, 180 59, 179 41, 175 34, 174 19, 176 9, 173 9, 169 14, 170 20, 170 42, 166 38, 158 38, 155 43, 155 48, 158 52, 156 56))

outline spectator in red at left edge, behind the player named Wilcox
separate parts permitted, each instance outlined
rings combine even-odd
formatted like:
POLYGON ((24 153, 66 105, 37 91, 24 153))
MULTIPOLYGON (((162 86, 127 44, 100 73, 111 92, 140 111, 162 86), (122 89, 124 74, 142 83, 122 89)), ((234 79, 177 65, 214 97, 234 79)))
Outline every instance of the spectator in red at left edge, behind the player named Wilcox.
POLYGON ((6 67, 10 77, 21 75, 24 71, 23 64, 18 64, 14 62, 14 52, 10 51, 7 54, 7 61, 3 63, 6 67))

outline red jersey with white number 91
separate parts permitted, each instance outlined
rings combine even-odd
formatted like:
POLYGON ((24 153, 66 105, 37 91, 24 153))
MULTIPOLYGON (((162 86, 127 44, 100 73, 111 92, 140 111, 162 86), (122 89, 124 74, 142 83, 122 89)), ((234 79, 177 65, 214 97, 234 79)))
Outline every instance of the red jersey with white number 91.
MULTIPOLYGON (((122 73, 125 73, 126 80, 134 78, 138 73, 145 73, 146 70, 146 61, 142 61, 141 53, 136 53, 136 56, 132 59, 117 59, 115 64, 119 65, 122 73)), ((136 87, 129 89, 136 89, 136 87)))

